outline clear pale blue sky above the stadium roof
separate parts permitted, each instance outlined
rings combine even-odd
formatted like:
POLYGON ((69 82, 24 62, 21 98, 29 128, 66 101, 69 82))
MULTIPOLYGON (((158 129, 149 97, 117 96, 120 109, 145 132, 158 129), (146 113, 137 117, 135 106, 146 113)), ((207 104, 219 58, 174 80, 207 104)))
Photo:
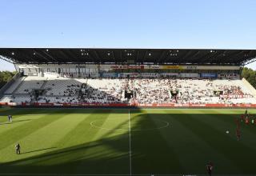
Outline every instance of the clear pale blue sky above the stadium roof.
MULTIPOLYGON (((0 0, 0 47, 256 49, 255 0, 0 0)), ((256 70, 256 62, 248 65, 256 70)), ((0 70, 14 66, 0 61, 0 70)))

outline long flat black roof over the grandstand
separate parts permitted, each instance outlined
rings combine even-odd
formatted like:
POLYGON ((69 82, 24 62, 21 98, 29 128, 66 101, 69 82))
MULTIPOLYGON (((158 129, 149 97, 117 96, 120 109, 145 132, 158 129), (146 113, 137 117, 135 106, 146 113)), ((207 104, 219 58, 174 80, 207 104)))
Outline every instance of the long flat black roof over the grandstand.
POLYGON ((14 63, 217 64, 254 62, 256 50, 0 48, 0 58, 14 63))

